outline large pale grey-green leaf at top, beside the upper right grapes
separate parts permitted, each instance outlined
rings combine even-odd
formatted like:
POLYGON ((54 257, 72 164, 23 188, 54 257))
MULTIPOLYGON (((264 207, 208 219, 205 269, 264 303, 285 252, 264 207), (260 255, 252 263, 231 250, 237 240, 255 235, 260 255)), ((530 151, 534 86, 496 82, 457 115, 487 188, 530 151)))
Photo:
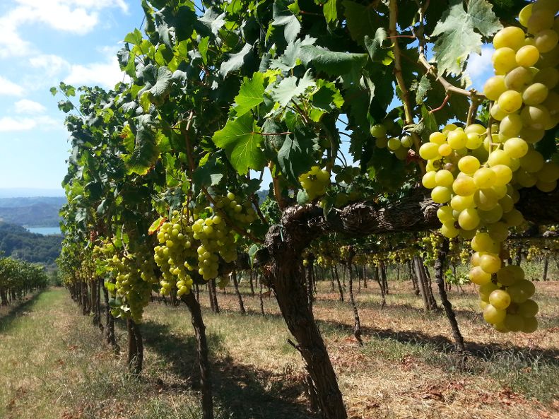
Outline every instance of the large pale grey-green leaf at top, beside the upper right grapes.
POLYGON ((469 55, 481 52, 481 35, 488 37, 501 28, 488 1, 471 0, 464 11, 461 0, 451 0, 431 35, 437 37, 433 54, 439 73, 461 73, 469 55))

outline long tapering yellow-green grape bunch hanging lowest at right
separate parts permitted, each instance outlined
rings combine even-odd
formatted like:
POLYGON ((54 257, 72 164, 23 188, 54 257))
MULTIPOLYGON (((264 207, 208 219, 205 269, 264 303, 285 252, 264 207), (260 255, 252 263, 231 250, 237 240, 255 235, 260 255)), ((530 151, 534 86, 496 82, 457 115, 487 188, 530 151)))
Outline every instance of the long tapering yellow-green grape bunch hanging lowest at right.
POLYGON ((484 319, 498 331, 531 333, 537 328, 534 316, 522 317, 514 310, 534 293, 533 284, 524 280, 517 267, 503 266, 502 244, 509 228, 524 222, 522 213, 514 209, 518 200, 518 192, 510 184, 514 167, 499 146, 486 150, 485 136, 486 129, 478 124, 466 129, 446 126, 431 134, 430 143, 420 148, 420 155, 429 159, 430 170, 423 185, 433 189, 435 202, 445 204, 437 210, 442 235, 471 240, 475 253, 469 279, 481 287, 484 319))

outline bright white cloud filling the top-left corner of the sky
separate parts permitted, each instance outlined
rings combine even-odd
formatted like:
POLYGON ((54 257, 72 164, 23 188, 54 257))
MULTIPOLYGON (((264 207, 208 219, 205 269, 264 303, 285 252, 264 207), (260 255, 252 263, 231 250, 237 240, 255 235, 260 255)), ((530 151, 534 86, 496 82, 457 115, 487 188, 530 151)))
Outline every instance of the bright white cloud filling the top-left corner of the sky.
POLYGON ((44 23, 55 30, 89 33, 99 23, 99 12, 120 8, 128 13, 124 0, 16 0, 17 6, 0 16, 0 58, 30 54, 33 47, 20 37, 23 25, 44 23))

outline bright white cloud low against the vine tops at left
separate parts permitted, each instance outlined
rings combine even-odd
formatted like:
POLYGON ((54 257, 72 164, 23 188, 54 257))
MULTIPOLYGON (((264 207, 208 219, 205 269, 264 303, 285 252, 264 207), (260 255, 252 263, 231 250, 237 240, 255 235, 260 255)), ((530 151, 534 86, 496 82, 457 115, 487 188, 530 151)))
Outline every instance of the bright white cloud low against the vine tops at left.
POLYGON ((100 85, 105 88, 114 88, 122 81, 124 73, 120 71, 117 57, 110 57, 108 61, 86 65, 73 64, 64 83, 71 85, 100 85))

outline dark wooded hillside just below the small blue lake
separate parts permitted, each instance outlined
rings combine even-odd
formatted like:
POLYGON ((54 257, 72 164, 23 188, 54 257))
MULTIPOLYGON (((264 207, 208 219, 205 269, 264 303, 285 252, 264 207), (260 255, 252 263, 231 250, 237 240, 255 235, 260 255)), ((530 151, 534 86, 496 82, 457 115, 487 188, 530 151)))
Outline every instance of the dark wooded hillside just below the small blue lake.
POLYGON ((16 259, 52 265, 60 254, 62 236, 43 236, 20 225, 0 223, 0 254, 16 259))

